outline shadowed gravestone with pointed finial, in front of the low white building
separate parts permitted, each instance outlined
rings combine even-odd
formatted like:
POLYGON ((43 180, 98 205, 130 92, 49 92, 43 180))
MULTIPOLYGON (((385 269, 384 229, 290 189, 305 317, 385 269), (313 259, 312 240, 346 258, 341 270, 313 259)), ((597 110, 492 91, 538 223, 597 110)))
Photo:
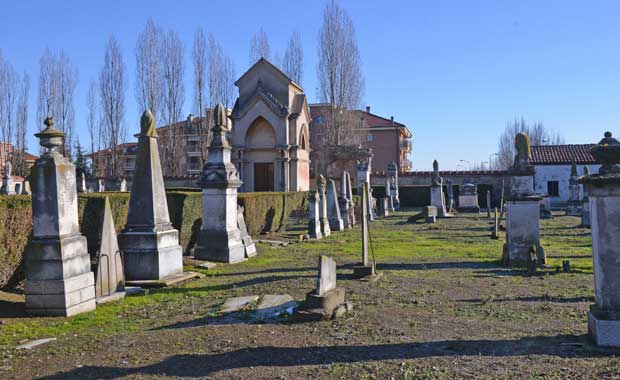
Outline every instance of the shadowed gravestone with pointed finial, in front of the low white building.
POLYGON ((527 134, 515 137, 517 151, 509 169, 512 176, 510 197, 506 200, 506 244, 502 260, 506 265, 527 265, 530 248, 536 247, 538 264, 546 264, 545 251, 540 245, 540 201, 534 193, 534 166, 527 134))

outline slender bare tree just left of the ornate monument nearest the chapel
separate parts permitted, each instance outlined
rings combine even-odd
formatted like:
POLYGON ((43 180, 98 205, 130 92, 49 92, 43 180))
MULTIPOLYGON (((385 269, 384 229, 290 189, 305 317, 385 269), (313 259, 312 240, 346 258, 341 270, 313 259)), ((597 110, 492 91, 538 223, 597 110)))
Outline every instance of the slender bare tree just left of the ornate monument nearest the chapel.
POLYGON ((194 112, 198 116, 196 129, 198 134, 198 148, 200 149, 201 166, 207 159, 207 144, 209 129, 206 122, 207 103, 207 41, 202 28, 194 34, 192 48, 192 62, 194 67, 194 112))

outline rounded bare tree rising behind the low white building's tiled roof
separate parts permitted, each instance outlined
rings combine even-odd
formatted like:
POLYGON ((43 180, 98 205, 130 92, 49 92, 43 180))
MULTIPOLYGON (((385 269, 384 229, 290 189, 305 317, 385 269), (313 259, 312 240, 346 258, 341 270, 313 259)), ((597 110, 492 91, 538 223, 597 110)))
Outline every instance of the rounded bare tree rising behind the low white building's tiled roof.
POLYGON ((515 117, 514 120, 506 123, 506 128, 499 138, 497 154, 493 162, 490 163, 492 168, 507 169, 512 166, 516 154, 515 136, 520 132, 528 134, 532 145, 564 144, 564 138, 547 129, 543 123, 528 124, 523 117, 515 117))

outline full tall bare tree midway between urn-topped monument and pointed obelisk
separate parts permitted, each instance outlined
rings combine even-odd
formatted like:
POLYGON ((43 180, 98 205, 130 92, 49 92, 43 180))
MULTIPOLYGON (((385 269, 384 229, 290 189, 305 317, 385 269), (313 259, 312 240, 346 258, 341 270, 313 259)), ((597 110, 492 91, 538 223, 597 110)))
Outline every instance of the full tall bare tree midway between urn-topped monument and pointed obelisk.
POLYGON ((122 175, 119 160, 119 143, 124 138, 123 118, 125 115, 125 64, 121 49, 114 37, 110 37, 105 48, 103 67, 99 73, 99 96, 103 118, 102 137, 110 151, 108 174, 122 175))

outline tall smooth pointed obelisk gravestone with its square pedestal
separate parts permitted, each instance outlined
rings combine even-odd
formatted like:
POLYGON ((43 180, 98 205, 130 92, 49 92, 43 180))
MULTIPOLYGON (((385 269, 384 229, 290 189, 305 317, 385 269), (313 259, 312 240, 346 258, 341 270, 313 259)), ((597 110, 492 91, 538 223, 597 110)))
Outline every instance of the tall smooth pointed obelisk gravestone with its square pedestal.
POLYGON ((183 249, 179 231, 170 223, 157 137, 155 117, 146 110, 140 119, 127 223, 118 237, 125 278, 133 283, 183 274, 183 249))

